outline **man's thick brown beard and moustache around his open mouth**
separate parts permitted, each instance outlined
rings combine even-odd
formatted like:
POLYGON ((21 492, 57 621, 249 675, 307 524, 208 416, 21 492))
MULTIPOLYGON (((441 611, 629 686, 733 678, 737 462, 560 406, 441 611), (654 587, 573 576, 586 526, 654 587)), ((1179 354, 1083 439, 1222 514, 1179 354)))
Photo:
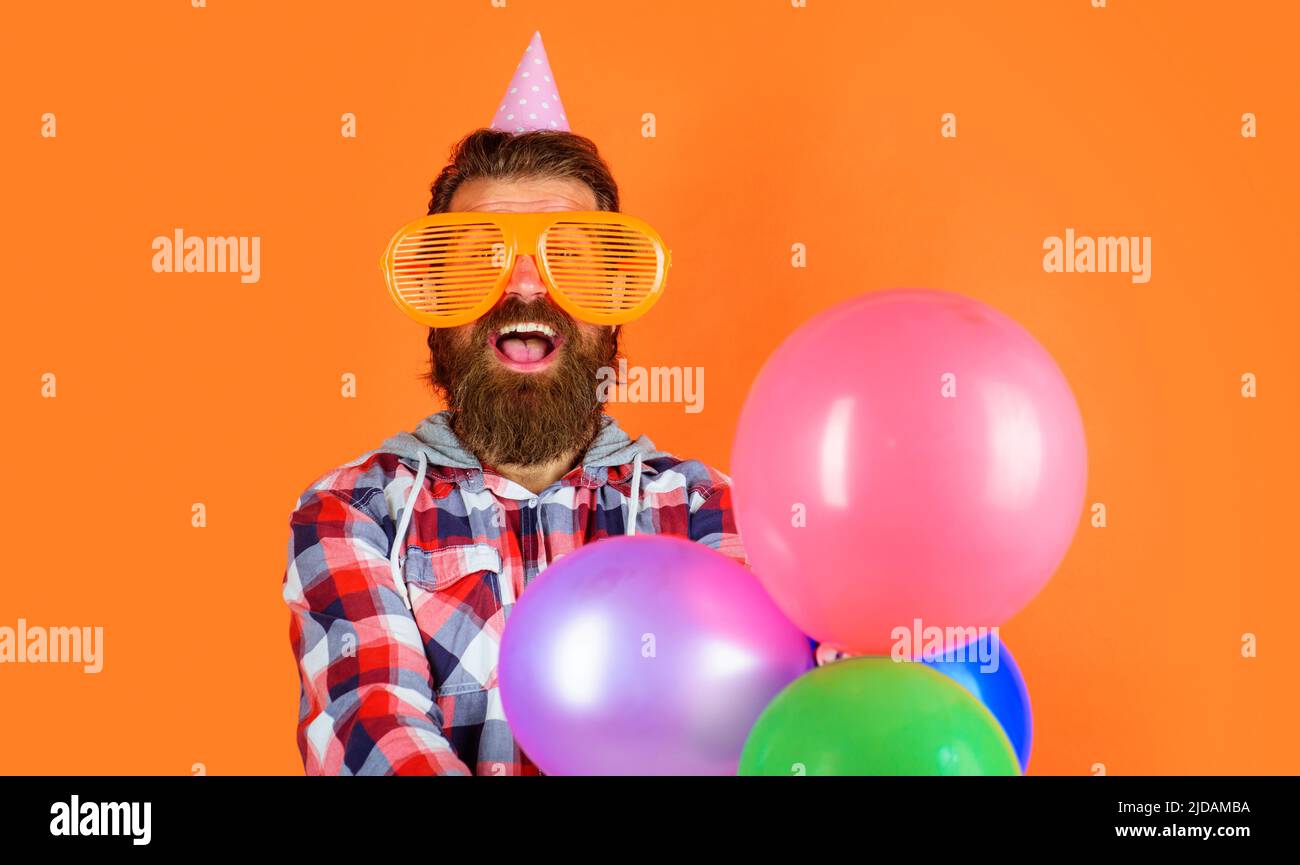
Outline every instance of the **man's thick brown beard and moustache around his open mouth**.
POLYGON ((474 324, 468 339, 463 333, 430 329, 429 377, 465 447, 494 466, 532 466, 586 450, 601 428, 598 371, 615 364, 616 332, 601 328, 589 336, 547 300, 510 297, 474 324), (550 325, 563 338, 550 368, 515 372, 495 358, 489 334, 515 321, 550 325))

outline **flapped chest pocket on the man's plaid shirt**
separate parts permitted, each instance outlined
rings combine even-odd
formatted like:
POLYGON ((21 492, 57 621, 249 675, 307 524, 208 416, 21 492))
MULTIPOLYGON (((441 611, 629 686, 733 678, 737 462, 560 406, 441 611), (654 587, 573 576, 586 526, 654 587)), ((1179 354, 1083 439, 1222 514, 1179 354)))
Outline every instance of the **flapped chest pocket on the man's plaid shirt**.
POLYGON ((500 570, 500 553, 490 544, 407 549, 403 575, 438 697, 482 691, 497 675, 500 570))

